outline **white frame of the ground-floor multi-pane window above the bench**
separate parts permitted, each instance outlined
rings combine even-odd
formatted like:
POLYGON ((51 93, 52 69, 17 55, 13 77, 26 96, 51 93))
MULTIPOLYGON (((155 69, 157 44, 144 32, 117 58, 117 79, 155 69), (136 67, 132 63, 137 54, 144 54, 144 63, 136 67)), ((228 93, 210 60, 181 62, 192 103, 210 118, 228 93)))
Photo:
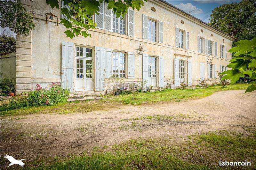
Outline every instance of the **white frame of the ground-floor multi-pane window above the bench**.
MULTIPOLYGON (((115 55, 116 56, 116 55, 115 55)), ((116 60, 116 59, 115 59, 116 60)), ((123 61, 123 60, 122 60, 123 61)), ((113 51, 113 56, 112 56, 112 70, 113 70, 113 77, 120 77, 120 78, 125 78, 126 77, 126 53, 124 52, 120 52, 120 51, 113 51), (113 57, 115 54, 118 54, 117 55, 117 66, 114 66, 114 62, 113 62, 113 57), (120 56, 120 54, 124 54, 124 63, 120 63, 120 57, 123 57, 123 56, 120 56), (124 66, 121 66, 121 67, 124 67, 124 73, 120 73, 120 64, 124 64, 124 66), (114 70, 114 67, 117 67, 117 73, 116 73, 116 69, 114 70), (114 73, 115 71, 115 73, 114 73), (115 76, 114 76, 115 74, 115 76), (116 76, 116 74, 118 74, 118 76, 116 76), (120 76, 122 74, 122 76, 120 76)))

